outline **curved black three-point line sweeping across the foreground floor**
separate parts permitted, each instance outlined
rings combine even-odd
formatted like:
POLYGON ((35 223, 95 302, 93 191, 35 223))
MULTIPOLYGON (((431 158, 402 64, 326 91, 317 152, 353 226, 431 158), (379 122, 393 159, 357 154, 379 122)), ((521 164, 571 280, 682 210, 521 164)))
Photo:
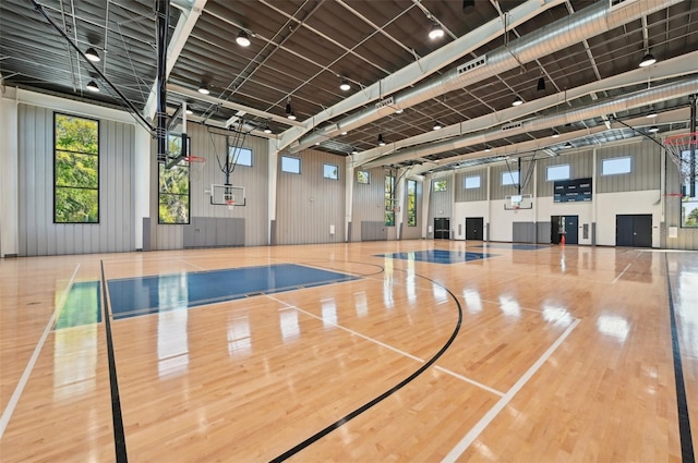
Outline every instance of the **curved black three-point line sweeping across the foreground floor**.
POLYGON ((448 339, 448 341, 446 341, 446 343, 443 345, 443 348, 441 348, 438 350, 438 352, 436 352, 436 354, 432 358, 429 360, 429 362, 426 362, 424 365, 422 365, 417 371, 412 373, 410 376, 408 376, 407 378, 401 380, 397 386, 393 387, 392 389, 388 389, 387 391, 383 392, 381 395, 378 395, 375 399, 371 400, 370 402, 361 405, 360 407, 358 407, 353 412, 351 412, 351 413, 345 415, 344 417, 337 419, 332 425, 329 425, 329 426, 325 427, 324 429, 315 432, 313 436, 309 437, 308 439, 305 439, 304 441, 302 441, 298 446, 287 450, 286 452, 281 453, 279 456, 275 458, 274 460, 270 460, 270 462, 278 463, 278 462, 282 462, 282 461, 293 456, 294 454, 297 454, 301 450, 305 449, 306 447, 310 447, 311 444, 313 444, 317 440, 320 440, 323 437, 327 436, 333 430, 337 429, 338 427, 342 426, 344 424, 346 424, 346 423, 350 422, 351 419, 356 418, 357 416, 361 415, 363 412, 368 411, 373 405, 376 405, 377 403, 382 402, 384 399, 387 399, 388 397, 393 395, 395 392, 399 391, 405 386, 409 385, 414 379, 417 379, 418 376, 420 376, 429 367, 431 367, 446 352, 446 350, 448 350, 448 348, 450 348, 450 344, 453 344, 453 342, 455 341, 456 337, 458 336, 458 332, 460 331, 460 324, 462 322, 462 307, 460 306, 460 302, 458 302, 458 297, 456 297, 456 295, 454 293, 452 293, 448 288, 444 287, 440 282, 434 281, 431 278, 422 277, 421 275, 418 275, 418 273, 414 273, 414 275, 420 277, 420 278, 423 278, 424 280, 431 281, 432 283, 438 284, 444 290, 446 290, 446 292, 448 294, 450 294, 450 297, 454 301, 456 301, 456 305, 458 306, 458 322, 456 324, 456 328, 454 329, 453 334, 450 334, 450 338, 448 339))

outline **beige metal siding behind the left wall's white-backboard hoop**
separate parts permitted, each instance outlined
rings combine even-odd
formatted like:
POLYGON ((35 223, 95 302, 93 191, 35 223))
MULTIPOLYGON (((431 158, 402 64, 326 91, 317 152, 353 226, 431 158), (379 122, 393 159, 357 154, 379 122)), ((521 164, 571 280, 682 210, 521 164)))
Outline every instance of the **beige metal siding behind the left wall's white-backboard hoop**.
MULTIPOLYGON (((190 218, 243 218, 245 223, 245 246, 260 246, 267 243, 267 198, 268 198, 268 145, 265 138, 248 135, 243 148, 252 149, 252 167, 238 166, 230 180, 233 186, 244 186, 246 206, 227 206, 210 204, 210 195, 205 193, 212 184, 224 184, 225 174, 220 170, 228 154, 227 135, 220 130, 208 130, 196 123, 186 124, 186 134, 191 137, 191 154, 206 159, 201 179, 193 180, 190 193, 190 218), (217 159, 218 158, 218 159, 217 159)), ((231 137, 231 141, 233 138, 231 137)), ((157 169, 157 166, 156 166, 157 169)), ((157 194, 157 193, 156 193, 157 194)), ((155 217, 157 220, 157 217, 155 217)), ((158 249, 179 249, 183 246, 183 226, 157 226, 158 249)))

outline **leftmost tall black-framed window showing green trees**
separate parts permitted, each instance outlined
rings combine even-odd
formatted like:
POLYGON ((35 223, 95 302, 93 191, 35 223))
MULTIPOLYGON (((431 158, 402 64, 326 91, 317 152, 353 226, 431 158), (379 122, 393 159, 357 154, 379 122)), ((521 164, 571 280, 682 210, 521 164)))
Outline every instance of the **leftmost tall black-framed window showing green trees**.
POLYGON ((53 114, 53 222, 99 223, 99 122, 53 114))

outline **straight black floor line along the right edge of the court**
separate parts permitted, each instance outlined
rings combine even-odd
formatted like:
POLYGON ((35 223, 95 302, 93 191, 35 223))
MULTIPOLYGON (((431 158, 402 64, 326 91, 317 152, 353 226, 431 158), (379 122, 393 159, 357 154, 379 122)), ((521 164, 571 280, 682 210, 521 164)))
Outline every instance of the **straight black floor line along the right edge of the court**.
POLYGON ((694 442, 690 434, 690 419, 688 417, 688 401, 686 400, 686 385, 684 382, 684 369, 681 364, 681 345, 676 330, 676 315, 674 313, 674 295, 672 293, 672 280, 669 273, 669 257, 664 253, 666 265, 666 289, 669 293, 669 314, 672 327, 672 351, 674 354, 674 379, 676 382, 676 409, 678 410, 678 435, 681 437, 681 458, 683 463, 695 463, 694 442))

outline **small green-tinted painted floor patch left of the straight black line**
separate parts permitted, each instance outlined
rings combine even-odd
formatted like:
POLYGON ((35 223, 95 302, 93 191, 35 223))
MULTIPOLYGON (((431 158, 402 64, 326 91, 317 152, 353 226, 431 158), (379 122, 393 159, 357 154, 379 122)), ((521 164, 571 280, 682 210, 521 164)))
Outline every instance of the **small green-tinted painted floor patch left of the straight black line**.
POLYGON ((55 330, 94 325, 101 321, 99 281, 79 281, 72 285, 55 330))

